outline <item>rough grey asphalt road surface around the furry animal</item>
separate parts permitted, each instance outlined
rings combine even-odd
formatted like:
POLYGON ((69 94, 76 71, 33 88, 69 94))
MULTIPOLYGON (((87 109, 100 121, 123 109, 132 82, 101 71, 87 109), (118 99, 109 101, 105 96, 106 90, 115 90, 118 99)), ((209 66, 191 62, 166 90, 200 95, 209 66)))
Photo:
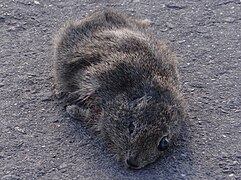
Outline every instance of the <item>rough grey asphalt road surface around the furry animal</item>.
POLYGON ((240 0, 1 0, 0 179, 241 179, 240 0), (150 19, 179 58, 189 117, 179 145, 130 170, 53 99, 52 38, 111 6, 150 19))

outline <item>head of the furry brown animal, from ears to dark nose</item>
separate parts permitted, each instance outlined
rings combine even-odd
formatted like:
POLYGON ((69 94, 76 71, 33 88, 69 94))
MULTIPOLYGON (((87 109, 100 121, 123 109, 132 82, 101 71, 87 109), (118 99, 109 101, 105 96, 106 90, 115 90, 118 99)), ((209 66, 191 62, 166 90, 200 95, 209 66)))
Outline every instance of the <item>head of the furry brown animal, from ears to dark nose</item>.
POLYGON ((100 127, 116 157, 134 169, 163 155, 183 118, 181 99, 175 91, 160 88, 148 92, 139 97, 123 93, 108 101, 100 127))

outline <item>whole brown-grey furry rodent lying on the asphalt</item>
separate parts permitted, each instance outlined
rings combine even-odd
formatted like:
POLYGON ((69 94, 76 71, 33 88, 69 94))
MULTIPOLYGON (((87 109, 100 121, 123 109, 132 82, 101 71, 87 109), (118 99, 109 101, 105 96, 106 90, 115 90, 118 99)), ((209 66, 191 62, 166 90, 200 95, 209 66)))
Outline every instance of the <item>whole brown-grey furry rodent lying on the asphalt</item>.
POLYGON ((175 55, 145 22, 105 9, 69 22, 54 43, 66 111, 134 169, 163 155, 185 114, 175 55))

